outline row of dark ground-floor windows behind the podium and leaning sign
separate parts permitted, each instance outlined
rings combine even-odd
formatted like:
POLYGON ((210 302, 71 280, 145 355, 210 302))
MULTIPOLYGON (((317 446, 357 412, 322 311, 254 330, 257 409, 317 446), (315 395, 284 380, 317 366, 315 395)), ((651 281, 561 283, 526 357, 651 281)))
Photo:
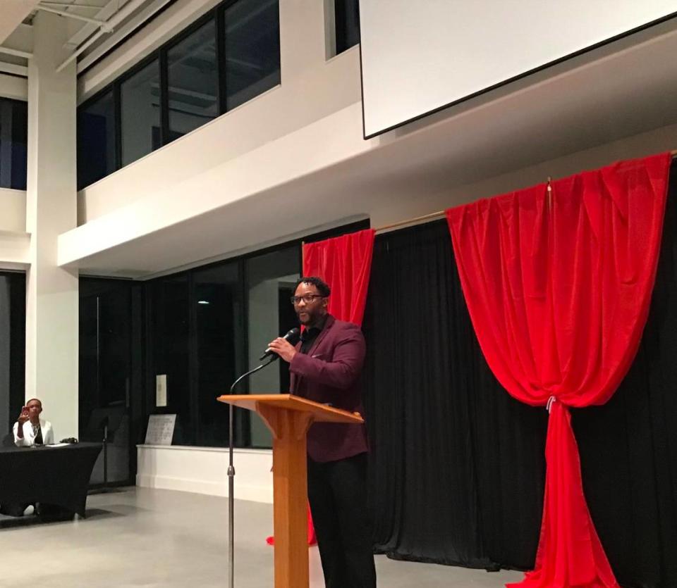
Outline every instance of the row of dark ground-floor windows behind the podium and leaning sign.
MULTIPOLYGON (((359 221, 308 235, 305 242, 368 226, 368 221, 359 221)), ((228 394, 239 375, 260 365, 259 357, 274 337, 298 327, 289 298, 300 275, 300 246, 300 241, 294 241, 142 284, 147 336, 135 338, 137 346, 131 359, 132 365, 145 361, 145 411, 138 426, 139 442, 143 442, 148 415, 176 413, 173 444, 228 445, 228 406, 217 402, 216 397, 228 394), (166 407, 155 403, 157 375, 166 375, 166 407)), ((83 304, 81 296, 81 308, 83 304)), ((81 321, 85 314, 81 311, 81 321)), ((90 322, 93 320, 90 318, 90 322)), ((132 319, 132 332, 140 332, 138 320, 132 319)), ((82 333, 95 332, 93 323, 88 328, 81 324, 80 332, 81 337, 82 333)), ((85 339, 80 340, 80 375, 85 377, 94 367, 85 365, 91 360, 84 352, 85 339)), ((92 345, 90 341, 90 348, 92 345)), ((111 363, 114 348, 106 349, 111 358, 99 361, 111 363)), ((276 361, 245 378, 235 393, 288 392, 289 380, 288 364, 276 361)), ((133 375, 132 381, 133 387, 133 375)), ((271 446, 267 428, 254 413, 236 408, 234 423, 236 446, 271 446)))

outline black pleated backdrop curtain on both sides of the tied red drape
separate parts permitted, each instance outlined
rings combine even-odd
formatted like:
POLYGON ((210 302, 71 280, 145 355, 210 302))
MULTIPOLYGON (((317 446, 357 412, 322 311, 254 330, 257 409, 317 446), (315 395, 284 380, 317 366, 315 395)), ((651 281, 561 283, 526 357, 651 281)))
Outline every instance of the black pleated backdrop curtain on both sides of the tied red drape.
MULTIPOLYGON (((592 519, 618 582, 677 586, 677 168, 635 363, 573 412, 592 519)), ((391 558, 532 568, 547 412, 487 366, 446 221, 377 236, 364 322, 374 547, 391 558)))

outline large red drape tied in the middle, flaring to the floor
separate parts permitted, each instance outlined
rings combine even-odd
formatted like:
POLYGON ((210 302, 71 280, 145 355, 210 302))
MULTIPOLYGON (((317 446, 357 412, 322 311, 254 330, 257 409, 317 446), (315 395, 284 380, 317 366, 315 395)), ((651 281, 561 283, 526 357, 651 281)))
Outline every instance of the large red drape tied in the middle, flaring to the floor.
POLYGON ((670 155, 616 163, 446 211, 489 367, 550 411, 535 569, 512 587, 616 587, 587 509, 569 406, 604 404, 640 343, 670 155))

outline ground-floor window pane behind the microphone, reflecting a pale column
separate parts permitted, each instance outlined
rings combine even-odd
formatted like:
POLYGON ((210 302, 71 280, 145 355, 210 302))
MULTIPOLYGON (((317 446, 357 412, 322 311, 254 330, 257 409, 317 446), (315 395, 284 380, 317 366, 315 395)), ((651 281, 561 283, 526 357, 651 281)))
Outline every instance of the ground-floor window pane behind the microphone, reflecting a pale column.
MULTIPOLYGON (((247 260, 249 369, 259 365, 259 356, 279 334, 298 327, 289 298, 298 280, 298 246, 251 257, 247 260)), ((278 361, 250 379, 255 393, 289 392, 289 364, 278 361)), ((252 447, 269 447, 271 438, 257 415, 250 413, 252 447)))

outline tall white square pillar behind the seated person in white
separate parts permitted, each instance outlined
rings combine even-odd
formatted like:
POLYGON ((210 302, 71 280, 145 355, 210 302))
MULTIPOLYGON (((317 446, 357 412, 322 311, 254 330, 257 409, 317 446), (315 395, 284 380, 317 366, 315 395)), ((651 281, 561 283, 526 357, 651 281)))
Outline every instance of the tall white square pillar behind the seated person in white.
POLYGON ((42 400, 56 439, 78 435, 78 275, 56 265, 56 238, 77 223, 75 63, 60 73, 67 19, 33 20, 28 63, 28 186, 31 234, 26 284, 26 398, 42 400))

